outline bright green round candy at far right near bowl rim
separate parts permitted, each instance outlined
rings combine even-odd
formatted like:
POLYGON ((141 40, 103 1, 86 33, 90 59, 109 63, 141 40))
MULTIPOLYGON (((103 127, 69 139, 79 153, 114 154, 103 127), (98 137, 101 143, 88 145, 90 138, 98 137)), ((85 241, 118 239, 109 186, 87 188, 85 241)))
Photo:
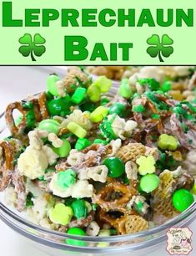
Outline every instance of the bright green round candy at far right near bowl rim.
POLYGON ((182 188, 173 193, 172 202, 178 212, 183 212, 194 202, 194 197, 191 192, 182 188))

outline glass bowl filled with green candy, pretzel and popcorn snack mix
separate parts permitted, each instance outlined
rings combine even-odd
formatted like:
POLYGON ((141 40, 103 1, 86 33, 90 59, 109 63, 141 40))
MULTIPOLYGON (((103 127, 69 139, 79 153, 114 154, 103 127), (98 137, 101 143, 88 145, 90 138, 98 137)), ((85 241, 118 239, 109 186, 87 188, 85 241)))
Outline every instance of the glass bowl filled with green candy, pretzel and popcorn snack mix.
POLYGON ((0 218, 49 255, 141 255, 195 219, 195 68, 112 79, 50 74, 0 115, 0 218))

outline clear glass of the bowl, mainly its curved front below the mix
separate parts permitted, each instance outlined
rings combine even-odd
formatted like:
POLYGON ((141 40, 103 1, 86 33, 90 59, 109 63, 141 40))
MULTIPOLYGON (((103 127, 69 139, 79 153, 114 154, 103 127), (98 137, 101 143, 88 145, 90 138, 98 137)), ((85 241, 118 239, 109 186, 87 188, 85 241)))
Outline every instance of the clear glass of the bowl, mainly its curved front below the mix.
MULTIPOLYGON (((114 85, 109 96, 116 94, 118 85, 114 85)), ((4 114, 0 115, 0 139, 8 136, 4 114)), ((196 202, 188 207, 177 217, 169 220, 163 225, 143 231, 141 233, 113 236, 113 237, 80 237, 59 233, 53 230, 39 227, 28 222, 24 213, 16 212, 8 207, 3 199, 3 192, 0 193, 0 219, 15 232, 27 238, 33 246, 47 253, 47 255, 119 255, 119 253, 129 254, 134 251, 134 255, 143 255, 154 252, 160 248, 160 243, 166 238, 166 233, 170 227, 188 227, 196 218, 196 202), (85 241, 83 246, 73 246, 66 243, 66 239, 72 238, 78 241, 85 241)), ((1 234, 3 235, 3 234, 1 234)), ((165 244, 166 247, 166 244, 165 244)))

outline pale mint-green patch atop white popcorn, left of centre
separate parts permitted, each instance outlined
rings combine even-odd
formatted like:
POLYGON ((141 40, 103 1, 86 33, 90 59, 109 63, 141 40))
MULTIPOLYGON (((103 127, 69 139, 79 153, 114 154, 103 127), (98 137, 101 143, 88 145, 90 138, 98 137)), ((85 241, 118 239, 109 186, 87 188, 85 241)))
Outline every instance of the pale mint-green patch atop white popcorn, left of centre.
POLYGON ((58 172, 57 186, 60 188, 68 188, 76 182, 76 173, 72 169, 64 172, 58 172))

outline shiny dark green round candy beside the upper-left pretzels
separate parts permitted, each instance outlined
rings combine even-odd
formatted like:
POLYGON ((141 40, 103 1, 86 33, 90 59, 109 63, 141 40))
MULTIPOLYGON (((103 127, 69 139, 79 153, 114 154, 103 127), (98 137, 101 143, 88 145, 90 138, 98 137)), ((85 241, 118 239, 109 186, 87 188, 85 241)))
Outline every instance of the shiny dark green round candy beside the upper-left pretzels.
POLYGON ((70 96, 66 95, 64 98, 53 99, 48 102, 48 112, 50 115, 65 116, 70 113, 70 96))

